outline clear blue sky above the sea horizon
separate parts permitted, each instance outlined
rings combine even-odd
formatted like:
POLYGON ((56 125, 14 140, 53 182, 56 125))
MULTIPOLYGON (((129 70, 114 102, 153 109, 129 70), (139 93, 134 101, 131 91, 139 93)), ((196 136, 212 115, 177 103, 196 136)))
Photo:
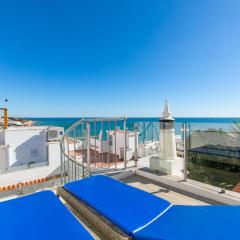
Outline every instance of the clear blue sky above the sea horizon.
POLYGON ((15 116, 240 116, 239 0, 0 0, 15 116))

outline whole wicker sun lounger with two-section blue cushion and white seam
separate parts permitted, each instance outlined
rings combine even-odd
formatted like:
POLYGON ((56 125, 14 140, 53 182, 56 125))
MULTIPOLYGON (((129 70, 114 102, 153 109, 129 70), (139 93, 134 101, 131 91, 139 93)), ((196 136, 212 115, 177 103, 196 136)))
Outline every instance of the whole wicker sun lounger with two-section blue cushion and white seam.
POLYGON ((103 239, 240 239, 238 206, 173 206, 106 176, 68 183, 58 193, 88 224, 107 232, 103 239))

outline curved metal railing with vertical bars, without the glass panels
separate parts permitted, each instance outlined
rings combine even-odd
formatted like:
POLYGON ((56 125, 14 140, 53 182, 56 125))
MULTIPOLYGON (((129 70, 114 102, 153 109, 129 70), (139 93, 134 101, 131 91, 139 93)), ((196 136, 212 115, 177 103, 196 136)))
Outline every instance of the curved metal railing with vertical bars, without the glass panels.
MULTIPOLYGON (((126 121, 126 117, 81 119, 68 128, 60 141, 62 183, 101 171, 126 170, 130 134, 126 121)), ((136 151, 135 147, 134 166, 136 151)))

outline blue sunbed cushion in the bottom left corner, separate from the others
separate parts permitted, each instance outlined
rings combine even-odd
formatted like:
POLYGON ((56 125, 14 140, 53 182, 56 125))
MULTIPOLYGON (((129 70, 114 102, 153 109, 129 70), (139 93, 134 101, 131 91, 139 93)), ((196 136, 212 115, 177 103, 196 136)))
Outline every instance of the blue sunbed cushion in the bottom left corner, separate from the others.
POLYGON ((0 202, 0 233, 6 240, 93 240, 51 191, 0 202))

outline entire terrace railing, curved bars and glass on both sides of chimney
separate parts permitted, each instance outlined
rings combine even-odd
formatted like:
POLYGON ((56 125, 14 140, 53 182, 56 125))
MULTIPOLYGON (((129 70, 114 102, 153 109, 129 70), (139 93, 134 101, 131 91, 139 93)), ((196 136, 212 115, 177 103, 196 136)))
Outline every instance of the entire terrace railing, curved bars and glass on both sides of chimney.
MULTIPOLYGON (((160 136, 157 120, 82 119, 61 140, 63 182, 101 171, 149 168, 150 157, 159 156, 160 136)), ((176 122, 175 137, 177 156, 184 159, 184 181, 191 179, 229 190, 240 183, 239 124, 176 122)))

